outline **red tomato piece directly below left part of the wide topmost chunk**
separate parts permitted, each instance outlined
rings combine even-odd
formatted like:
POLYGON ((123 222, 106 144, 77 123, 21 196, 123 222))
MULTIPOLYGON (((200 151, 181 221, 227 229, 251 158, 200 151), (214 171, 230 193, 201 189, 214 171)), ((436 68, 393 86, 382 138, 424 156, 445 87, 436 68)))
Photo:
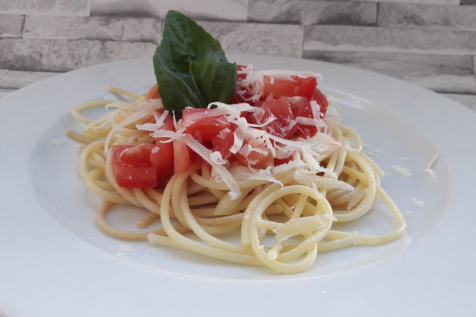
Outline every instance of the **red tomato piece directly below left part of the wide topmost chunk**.
POLYGON ((291 106, 287 98, 267 99, 261 105, 261 108, 264 110, 264 116, 261 122, 265 122, 269 118, 276 118, 263 129, 282 138, 289 138, 294 135, 296 127, 291 126, 293 112, 291 111, 291 106))

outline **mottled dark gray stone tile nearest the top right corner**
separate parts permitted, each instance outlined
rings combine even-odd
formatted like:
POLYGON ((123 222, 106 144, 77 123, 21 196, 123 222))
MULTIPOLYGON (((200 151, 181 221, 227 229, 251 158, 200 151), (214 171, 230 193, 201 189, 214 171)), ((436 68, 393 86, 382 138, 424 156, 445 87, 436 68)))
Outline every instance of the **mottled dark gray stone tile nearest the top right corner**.
POLYGON ((378 25, 476 31, 476 6, 381 3, 378 25))

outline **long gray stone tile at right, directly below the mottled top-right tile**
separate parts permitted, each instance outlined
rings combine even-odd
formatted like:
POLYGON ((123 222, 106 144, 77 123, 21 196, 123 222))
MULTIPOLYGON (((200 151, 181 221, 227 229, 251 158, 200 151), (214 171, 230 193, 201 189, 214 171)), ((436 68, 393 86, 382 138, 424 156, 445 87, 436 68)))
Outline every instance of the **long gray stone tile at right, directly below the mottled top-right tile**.
POLYGON ((476 32, 312 25, 304 27, 303 49, 469 55, 476 54, 476 32))

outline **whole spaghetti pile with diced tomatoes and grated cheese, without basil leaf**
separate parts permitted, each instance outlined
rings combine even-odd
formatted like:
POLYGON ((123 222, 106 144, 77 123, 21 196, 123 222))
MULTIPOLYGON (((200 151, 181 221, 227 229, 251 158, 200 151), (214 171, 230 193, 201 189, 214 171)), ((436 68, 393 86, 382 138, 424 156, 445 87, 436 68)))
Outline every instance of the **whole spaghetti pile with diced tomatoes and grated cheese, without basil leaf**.
POLYGON ((319 76, 238 66, 233 104, 185 108, 179 120, 164 109, 156 85, 144 96, 110 87, 134 102, 74 107, 86 126, 83 135, 68 134, 86 144, 81 176, 104 199, 98 226, 119 239, 284 273, 307 269, 318 252, 401 236, 405 221, 380 187, 382 170, 361 152, 356 131, 341 124, 333 98, 315 88, 319 76), (96 106, 114 110, 94 120, 80 114, 96 106), (377 199, 393 213, 393 231, 333 230, 377 199), (105 215, 116 204, 148 210, 138 226, 162 229, 113 227, 105 215), (233 234, 235 243, 224 238, 233 234))

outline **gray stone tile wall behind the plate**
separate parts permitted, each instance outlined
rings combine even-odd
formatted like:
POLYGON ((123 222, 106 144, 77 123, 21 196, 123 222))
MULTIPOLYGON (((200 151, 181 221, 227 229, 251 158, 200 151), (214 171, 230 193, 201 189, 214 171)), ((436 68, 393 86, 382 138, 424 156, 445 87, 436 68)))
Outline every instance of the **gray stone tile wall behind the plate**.
POLYGON ((370 69, 476 110, 476 0, 0 0, 0 97, 57 72, 151 56, 169 9, 227 53, 370 69))

